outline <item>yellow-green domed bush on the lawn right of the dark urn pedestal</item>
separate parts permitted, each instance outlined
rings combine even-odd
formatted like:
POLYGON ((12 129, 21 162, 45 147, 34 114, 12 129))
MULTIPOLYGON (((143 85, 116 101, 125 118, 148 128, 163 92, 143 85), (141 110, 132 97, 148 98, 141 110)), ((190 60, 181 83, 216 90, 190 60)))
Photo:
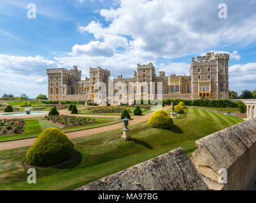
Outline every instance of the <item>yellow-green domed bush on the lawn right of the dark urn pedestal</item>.
POLYGON ((148 126, 153 128, 171 129, 174 126, 173 119, 164 110, 157 110, 148 120, 148 126))

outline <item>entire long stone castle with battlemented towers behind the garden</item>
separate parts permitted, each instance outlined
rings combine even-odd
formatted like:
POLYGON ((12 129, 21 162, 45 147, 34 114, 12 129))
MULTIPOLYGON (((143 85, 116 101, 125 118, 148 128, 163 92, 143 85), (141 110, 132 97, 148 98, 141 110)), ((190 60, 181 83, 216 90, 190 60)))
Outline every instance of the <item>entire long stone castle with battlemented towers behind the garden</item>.
MULTIPOLYGON (((157 93, 162 94, 162 99, 209 99, 219 100, 229 98, 229 55, 206 53, 206 56, 192 57, 189 76, 165 72, 155 73, 152 63, 137 65, 134 77, 111 80, 110 71, 107 69, 90 68, 90 77, 81 80, 82 71, 74 66, 73 69, 47 69, 48 75, 48 100, 94 100, 97 91, 97 82, 106 85, 106 98, 114 100, 122 96, 152 96, 157 99, 157 93), (136 84, 130 86, 131 83, 136 84), (155 88, 150 85, 154 82, 155 88), (122 86, 117 84, 122 83, 122 86), (160 84, 160 88, 159 85, 160 84), (118 88, 117 88, 118 86, 118 88), (153 89, 153 91, 152 91, 153 89)), ((152 97, 151 97, 152 98, 152 97)), ((136 97, 134 96, 134 99, 136 97)))

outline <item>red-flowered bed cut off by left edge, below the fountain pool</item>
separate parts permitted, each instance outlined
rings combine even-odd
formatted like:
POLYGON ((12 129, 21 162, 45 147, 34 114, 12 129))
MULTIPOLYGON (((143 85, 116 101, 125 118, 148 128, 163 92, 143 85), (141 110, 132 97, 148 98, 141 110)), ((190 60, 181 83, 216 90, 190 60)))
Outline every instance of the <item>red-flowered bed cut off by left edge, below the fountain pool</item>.
POLYGON ((0 135, 19 134, 25 129, 23 119, 0 119, 0 135))

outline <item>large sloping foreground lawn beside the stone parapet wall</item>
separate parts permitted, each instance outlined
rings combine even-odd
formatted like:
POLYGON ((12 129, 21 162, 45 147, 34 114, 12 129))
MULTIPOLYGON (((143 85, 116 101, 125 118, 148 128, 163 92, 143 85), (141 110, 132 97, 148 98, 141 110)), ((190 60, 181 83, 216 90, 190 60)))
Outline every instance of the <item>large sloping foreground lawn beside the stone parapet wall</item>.
POLYGON ((0 151, 0 190, 72 190, 177 147, 191 155, 196 140, 243 121, 199 108, 186 112, 174 119, 171 130, 150 128, 147 122, 130 126, 131 141, 120 138, 120 129, 76 138, 73 142, 82 154, 81 163, 36 169, 36 184, 27 183, 27 170, 21 164, 29 147, 0 151))

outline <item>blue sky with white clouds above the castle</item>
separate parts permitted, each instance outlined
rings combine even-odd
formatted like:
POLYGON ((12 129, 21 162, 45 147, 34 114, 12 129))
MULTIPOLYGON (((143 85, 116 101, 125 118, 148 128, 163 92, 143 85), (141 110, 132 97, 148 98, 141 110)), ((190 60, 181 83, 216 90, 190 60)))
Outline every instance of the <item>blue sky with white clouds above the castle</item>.
POLYGON ((231 54, 230 89, 256 88, 253 0, 0 0, 0 96, 47 93, 46 69, 103 67, 131 77, 152 62, 166 75, 188 74, 191 57, 231 54), (27 18, 27 5, 36 18, 27 18), (227 18, 218 18, 220 3, 227 18))

